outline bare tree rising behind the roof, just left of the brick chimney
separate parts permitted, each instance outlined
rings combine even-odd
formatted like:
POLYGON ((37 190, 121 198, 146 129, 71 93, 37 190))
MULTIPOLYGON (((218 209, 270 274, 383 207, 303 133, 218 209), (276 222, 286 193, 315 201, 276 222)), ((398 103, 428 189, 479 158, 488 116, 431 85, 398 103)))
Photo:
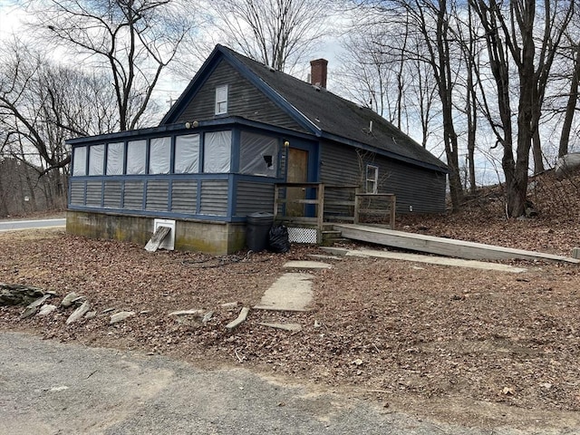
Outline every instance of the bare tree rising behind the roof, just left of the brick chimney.
MULTIPOLYGON (((328 0, 214 0, 219 37, 278 71, 292 70, 328 34, 328 0)), ((223 41, 222 41, 223 42, 223 41)))

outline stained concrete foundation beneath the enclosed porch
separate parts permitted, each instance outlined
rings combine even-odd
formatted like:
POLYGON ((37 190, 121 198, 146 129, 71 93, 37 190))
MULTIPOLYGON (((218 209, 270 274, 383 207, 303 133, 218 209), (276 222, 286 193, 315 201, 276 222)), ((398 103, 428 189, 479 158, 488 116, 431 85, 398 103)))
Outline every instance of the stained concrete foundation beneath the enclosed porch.
MULTIPOLYGON (((75 236, 130 241, 145 246, 155 218, 68 210, 66 231, 75 236)), ((246 246, 246 224, 178 220, 175 248, 215 256, 233 254, 246 246)))

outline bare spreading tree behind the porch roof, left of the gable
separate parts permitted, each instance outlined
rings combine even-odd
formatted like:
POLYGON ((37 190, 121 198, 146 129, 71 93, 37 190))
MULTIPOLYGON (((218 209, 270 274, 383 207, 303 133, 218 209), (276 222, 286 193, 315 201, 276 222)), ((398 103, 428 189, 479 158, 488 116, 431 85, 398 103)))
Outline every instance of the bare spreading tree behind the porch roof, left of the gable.
POLYGON ((161 72, 192 28, 171 0, 34 1, 34 28, 77 56, 77 64, 107 71, 119 130, 140 126, 161 72))

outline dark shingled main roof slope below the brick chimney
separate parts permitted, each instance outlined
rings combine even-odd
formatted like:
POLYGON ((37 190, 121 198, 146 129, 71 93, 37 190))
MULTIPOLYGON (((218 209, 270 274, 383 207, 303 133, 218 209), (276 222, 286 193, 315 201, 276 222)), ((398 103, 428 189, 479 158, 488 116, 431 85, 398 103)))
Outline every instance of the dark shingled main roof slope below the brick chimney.
POLYGON ((256 74, 281 98, 291 104, 318 130, 321 136, 335 140, 358 142, 394 154, 403 160, 416 160, 441 169, 447 165, 425 150, 415 140, 397 129, 371 109, 339 97, 325 89, 315 87, 295 77, 273 71, 262 63, 253 61, 233 50, 218 45, 218 50, 234 56, 252 73, 256 74), (372 131, 370 123, 372 121, 372 131), (338 137, 338 138, 335 138, 338 137))

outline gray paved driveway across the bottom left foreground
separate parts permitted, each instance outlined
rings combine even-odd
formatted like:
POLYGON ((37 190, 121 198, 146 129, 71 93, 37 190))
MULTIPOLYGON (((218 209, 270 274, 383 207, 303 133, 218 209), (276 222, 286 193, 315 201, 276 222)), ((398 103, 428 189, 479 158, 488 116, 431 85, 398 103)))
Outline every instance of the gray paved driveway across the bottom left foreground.
MULTIPOLYGON (((241 369, 0 333, 0 433, 489 435, 241 369)), ((539 432, 538 432, 539 433, 539 432)))

